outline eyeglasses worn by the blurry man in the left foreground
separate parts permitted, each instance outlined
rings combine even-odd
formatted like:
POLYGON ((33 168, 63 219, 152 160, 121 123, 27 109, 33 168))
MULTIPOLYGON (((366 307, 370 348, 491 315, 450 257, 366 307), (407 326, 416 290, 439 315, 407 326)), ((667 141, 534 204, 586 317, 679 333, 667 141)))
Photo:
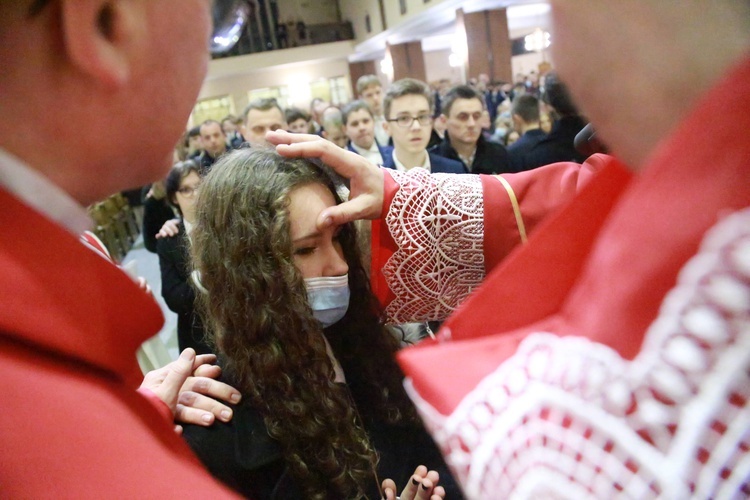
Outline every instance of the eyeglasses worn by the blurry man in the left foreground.
MULTIPOLYGON (((29 7, 29 17, 36 17, 51 0, 34 0, 29 7)), ((250 4, 246 0, 214 0, 211 6, 213 32, 209 41, 211 54, 230 50, 240 39, 242 29, 250 17, 250 4)))

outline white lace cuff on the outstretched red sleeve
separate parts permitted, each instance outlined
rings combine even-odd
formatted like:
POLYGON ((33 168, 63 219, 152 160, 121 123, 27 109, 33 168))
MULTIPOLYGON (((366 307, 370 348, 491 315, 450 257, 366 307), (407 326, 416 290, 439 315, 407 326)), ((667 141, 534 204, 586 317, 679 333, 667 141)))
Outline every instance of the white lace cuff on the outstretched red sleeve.
POLYGON ((393 323, 445 319, 484 278, 484 201, 477 175, 389 172, 401 186, 385 223, 398 245, 383 274, 393 323))

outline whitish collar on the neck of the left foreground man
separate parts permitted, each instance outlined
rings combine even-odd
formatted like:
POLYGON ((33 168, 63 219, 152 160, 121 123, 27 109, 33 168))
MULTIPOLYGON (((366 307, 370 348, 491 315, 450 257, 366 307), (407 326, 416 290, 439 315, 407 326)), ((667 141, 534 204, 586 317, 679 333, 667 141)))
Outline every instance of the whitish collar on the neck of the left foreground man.
POLYGON ((68 193, 1 148, 0 187, 76 236, 92 227, 86 209, 68 193))

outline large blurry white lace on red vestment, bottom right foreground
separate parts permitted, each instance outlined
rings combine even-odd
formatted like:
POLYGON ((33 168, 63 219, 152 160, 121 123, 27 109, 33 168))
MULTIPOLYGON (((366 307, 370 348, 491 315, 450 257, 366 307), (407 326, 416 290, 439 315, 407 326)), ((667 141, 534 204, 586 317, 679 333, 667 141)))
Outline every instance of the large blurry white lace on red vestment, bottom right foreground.
POLYGON ((407 388, 469 498, 746 498, 750 209, 708 233, 634 360, 540 332, 447 417, 407 388))

